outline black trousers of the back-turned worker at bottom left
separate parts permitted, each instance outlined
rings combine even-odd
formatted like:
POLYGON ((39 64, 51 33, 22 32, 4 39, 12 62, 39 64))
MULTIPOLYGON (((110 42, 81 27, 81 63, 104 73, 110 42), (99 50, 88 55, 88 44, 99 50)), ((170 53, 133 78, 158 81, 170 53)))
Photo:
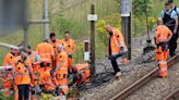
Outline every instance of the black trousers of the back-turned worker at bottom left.
POLYGON ((17 85, 19 100, 28 100, 29 98, 29 85, 17 85))

